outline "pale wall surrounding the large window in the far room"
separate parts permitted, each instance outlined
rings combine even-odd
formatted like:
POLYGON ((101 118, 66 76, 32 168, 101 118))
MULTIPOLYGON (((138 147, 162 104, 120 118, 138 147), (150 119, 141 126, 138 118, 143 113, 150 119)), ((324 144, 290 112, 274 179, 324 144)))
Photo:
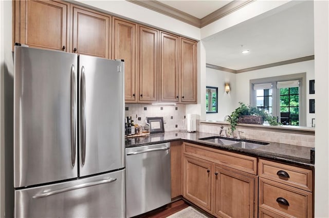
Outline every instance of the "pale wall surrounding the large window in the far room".
POLYGON ((249 71, 236 74, 236 102, 244 102, 249 104, 250 100, 250 83, 251 79, 259 79, 273 76, 283 76, 289 74, 306 73, 306 126, 312 126, 312 118, 315 114, 309 114, 308 99, 315 98, 315 95, 309 95, 309 80, 314 79, 314 60, 308 60, 298 63, 286 64, 273 68, 265 68, 261 70, 249 71))

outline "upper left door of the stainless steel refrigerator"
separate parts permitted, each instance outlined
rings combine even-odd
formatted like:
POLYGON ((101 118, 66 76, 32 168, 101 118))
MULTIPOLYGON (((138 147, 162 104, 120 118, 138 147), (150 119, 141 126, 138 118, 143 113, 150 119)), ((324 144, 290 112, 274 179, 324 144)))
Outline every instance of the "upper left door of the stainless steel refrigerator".
POLYGON ((15 47, 14 187, 78 176, 76 54, 15 47))

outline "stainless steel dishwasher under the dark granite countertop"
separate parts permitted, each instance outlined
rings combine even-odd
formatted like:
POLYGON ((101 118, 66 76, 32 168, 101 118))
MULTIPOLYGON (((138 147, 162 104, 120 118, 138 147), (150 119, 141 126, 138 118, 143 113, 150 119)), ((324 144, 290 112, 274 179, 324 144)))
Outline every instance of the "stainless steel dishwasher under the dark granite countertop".
POLYGON ((127 217, 170 203, 170 143, 126 148, 125 155, 127 217))

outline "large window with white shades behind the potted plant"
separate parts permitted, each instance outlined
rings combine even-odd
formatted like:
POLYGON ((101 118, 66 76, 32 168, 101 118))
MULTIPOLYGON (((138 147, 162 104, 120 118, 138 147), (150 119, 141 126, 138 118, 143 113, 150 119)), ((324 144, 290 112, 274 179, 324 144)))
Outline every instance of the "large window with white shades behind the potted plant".
POLYGON ((250 104, 277 117, 283 125, 305 125, 305 78, 306 73, 302 73, 250 80, 250 104))

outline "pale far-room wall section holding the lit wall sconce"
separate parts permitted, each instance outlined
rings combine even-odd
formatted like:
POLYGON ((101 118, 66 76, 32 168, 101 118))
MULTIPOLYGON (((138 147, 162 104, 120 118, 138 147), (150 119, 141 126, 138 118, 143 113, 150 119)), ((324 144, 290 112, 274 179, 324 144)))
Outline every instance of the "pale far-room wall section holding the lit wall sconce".
POLYGON ((206 119, 223 121, 237 106, 236 93, 240 87, 236 85, 236 74, 207 68, 206 86, 218 87, 218 113, 207 114, 206 119), (231 92, 228 94, 225 92, 225 83, 230 84, 231 92))

